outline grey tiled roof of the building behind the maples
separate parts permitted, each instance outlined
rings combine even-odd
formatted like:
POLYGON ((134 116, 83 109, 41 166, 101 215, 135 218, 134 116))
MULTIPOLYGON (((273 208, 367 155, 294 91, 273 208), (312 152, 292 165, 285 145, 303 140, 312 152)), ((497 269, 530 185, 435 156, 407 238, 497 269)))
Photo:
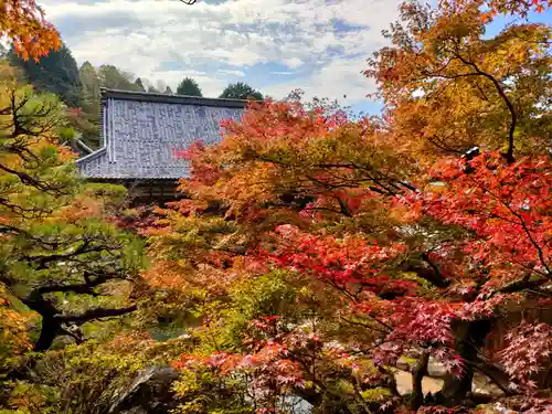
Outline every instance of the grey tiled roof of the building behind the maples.
POLYGON ((188 163, 174 157, 201 139, 221 140, 220 123, 238 119, 246 102, 104 89, 103 147, 76 161, 89 179, 179 179, 188 163))

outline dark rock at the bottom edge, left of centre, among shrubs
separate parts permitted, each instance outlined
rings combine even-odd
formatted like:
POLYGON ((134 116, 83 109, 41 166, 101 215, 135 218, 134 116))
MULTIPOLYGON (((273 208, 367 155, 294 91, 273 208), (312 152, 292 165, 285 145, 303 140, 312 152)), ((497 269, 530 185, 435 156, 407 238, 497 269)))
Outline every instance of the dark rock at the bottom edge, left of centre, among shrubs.
POLYGON ((179 373, 170 367, 152 367, 141 371, 132 383, 115 395, 109 414, 166 414, 178 402, 172 383, 179 373))

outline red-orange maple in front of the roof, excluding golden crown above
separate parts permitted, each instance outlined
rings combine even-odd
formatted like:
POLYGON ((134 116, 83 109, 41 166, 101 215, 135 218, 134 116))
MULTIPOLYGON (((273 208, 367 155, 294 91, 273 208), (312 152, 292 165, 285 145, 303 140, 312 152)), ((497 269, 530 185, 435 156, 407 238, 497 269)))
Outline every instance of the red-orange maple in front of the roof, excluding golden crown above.
MULTIPOLYGON (((397 170, 391 174, 360 164, 360 159, 374 162, 373 157, 359 156, 360 148, 341 152, 339 144, 332 142, 331 153, 320 153, 320 148, 328 145, 326 137, 332 134, 340 138, 338 142, 343 149, 350 148, 346 134, 354 134, 359 126, 342 118, 339 123, 338 126, 332 117, 317 119, 316 115, 301 112, 297 104, 267 103, 251 108, 241 123, 227 125, 230 132, 220 146, 191 148, 185 156, 192 161, 193 174, 182 188, 192 194, 192 200, 176 203, 177 210, 168 212, 169 219, 160 222, 166 226, 149 233, 156 254, 167 252, 174 261, 164 272, 157 269, 152 275, 156 283, 168 285, 176 280, 172 286, 178 287, 182 283, 178 277, 184 275, 178 264, 190 264, 192 259, 194 265, 187 267, 185 273, 190 276, 181 286, 189 287, 191 283, 206 288, 208 297, 224 298, 225 290, 243 284, 244 277, 258 277, 255 275, 276 267, 308 276, 309 293, 316 298, 309 298, 310 310, 318 312, 322 302, 328 306, 329 290, 321 287, 326 285, 340 299, 331 304, 332 315, 325 314, 319 330, 312 335, 321 341, 320 349, 325 343, 339 341, 343 354, 355 354, 350 363, 362 361, 371 364, 372 371, 382 370, 376 372, 386 378, 386 391, 376 394, 375 401, 383 400, 380 406, 396 407, 400 401, 394 392, 396 386, 389 380, 389 365, 405 354, 420 360, 413 374, 411 403, 416 408, 429 403, 421 385, 429 355, 449 371, 444 389, 435 396, 436 402, 445 405, 464 404, 476 371, 489 376, 506 394, 545 388, 546 375, 535 380, 548 363, 550 333, 545 323, 537 323, 538 337, 527 339, 534 347, 531 363, 520 364, 508 349, 496 352, 485 344, 499 320, 514 322, 512 304, 532 306, 537 300, 543 310, 548 309, 546 301, 539 300, 548 296, 550 284, 551 185, 546 158, 520 159, 508 164, 492 153, 474 158, 469 166, 466 160, 448 159, 427 171, 425 183, 418 178, 415 188, 396 178, 397 170), (263 117, 263 121, 257 117, 263 117), (255 123, 250 124, 250 119, 255 123), (254 129, 254 125, 275 125, 274 136, 269 135, 270 129, 254 129), (359 158, 352 161, 354 156, 359 158), (379 172, 379 179, 373 179, 373 171, 379 172), (435 182, 437 179, 440 181, 435 182), (404 214, 405 209, 408 214, 404 214), (224 214, 226 220, 213 219, 213 214, 224 214), (219 227, 208 224, 213 220, 219 221, 219 227), (198 225, 209 225, 215 232, 205 240, 198 233, 198 225), (190 250, 189 243, 199 243, 202 252, 190 250), (214 278, 208 276, 212 272, 214 278), (335 318, 339 318, 341 331, 325 331, 337 322, 335 318), (347 325, 354 328, 353 335, 343 336, 350 332, 343 328, 347 325)), ((370 138, 376 131, 368 132, 370 138)), ((405 166, 404 171, 407 170, 405 166)), ((259 316, 264 326, 279 320, 278 314, 261 314, 252 323, 258 326, 255 320, 259 316)), ((222 320, 227 323, 226 317, 222 320)), ((523 328, 529 335, 533 325, 523 323, 529 323, 523 328)), ((512 329, 516 332, 518 328, 512 329)), ((320 397, 335 395, 323 383, 323 370, 317 373, 323 379, 321 384, 314 385, 312 381, 319 379, 312 374, 311 364, 287 343, 297 333, 289 329, 272 332, 266 346, 254 341, 252 352, 244 332, 238 349, 248 351, 247 358, 258 358, 258 363, 273 367, 270 358, 277 358, 276 349, 284 347, 284 354, 278 358, 284 365, 290 364, 287 388, 265 388, 280 395, 300 395, 316 404, 330 404, 320 397), (264 352, 269 352, 268 360, 264 352), (294 381, 301 385, 305 381, 308 386, 301 388, 294 381)), ((244 361, 232 353, 210 357, 216 363, 202 358, 187 357, 182 367, 201 367, 215 378, 231 375, 227 378, 232 384, 243 369, 253 369, 248 359, 244 361), (217 364, 225 368, 220 371, 217 364)), ((329 364, 326 354, 320 360, 320 365, 329 364)), ((255 374, 247 372, 261 383, 266 374, 283 376, 274 370, 266 374, 262 368, 253 370, 255 374)), ((353 372, 346 376, 352 384, 357 374, 353 372)), ((373 376, 373 372, 368 375, 373 376)), ((204 386, 208 384, 199 390, 208 392, 204 386)), ((371 380, 357 391, 362 394, 381 388, 381 380, 371 380)), ((337 394, 347 395, 342 390, 337 394)), ((358 401, 357 394, 341 399, 341 404, 368 404, 358 401)), ((183 396, 190 395, 184 392, 183 396)), ((274 410, 274 399, 265 405, 274 410)))

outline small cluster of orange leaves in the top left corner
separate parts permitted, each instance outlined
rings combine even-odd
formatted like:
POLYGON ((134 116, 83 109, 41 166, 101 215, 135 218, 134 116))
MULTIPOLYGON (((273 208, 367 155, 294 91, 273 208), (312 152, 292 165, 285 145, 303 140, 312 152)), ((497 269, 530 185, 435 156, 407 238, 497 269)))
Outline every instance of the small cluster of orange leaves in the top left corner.
POLYGON ((62 42, 57 30, 44 19, 34 0, 0 0, 0 34, 7 35, 24 60, 39 61, 62 42))

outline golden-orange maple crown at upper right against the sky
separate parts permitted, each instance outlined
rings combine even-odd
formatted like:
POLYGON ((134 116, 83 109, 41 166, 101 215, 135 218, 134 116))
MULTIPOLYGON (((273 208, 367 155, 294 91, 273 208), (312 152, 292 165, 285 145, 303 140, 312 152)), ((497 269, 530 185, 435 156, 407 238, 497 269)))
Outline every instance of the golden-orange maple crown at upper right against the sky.
POLYGON ((500 148, 509 162, 514 150, 546 151, 550 29, 512 24, 488 39, 481 4, 404 3, 406 24, 393 25, 392 45, 370 61, 365 74, 381 84, 396 134, 415 151, 500 148))

